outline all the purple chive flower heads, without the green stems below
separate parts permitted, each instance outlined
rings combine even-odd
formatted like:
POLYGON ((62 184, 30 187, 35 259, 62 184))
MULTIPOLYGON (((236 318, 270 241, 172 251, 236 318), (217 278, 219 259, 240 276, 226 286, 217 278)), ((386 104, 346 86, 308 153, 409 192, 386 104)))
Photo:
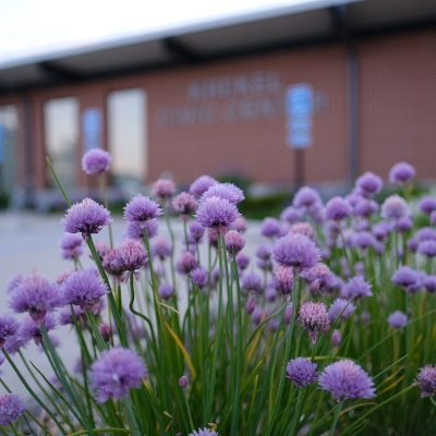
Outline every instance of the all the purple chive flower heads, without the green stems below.
MULTIPOLYGON (((83 168, 88 174, 101 174, 107 171, 109 162, 110 156, 108 157, 106 152, 94 149, 84 156, 83 168)), ((413 167, 400 162, 391 169, 389 179, 392 183, 404 184, 414 175, 413 167)), ((234 184, 219 183, 208 175, 202 175, 191 184, 190 192, 175 195, 174 182, 160 179, 153 187, 153 195, 160 204, 147 196, 136 195, 124 207, 124 219, 128 221, 125 234, 129 239, 112 250, 98 242, 95 243, 95 247, 102 268, 117 284, 125 283, 132 276, 138 279, 141 270, 145 270, 147 282, 154 281, 148 279, 156 276, 157 284, 153 291, 157 293, 154 295, 157 295, 159 305, 171 310, 171 305, 178 302, 180 287, 177 280, 172 283, 167 282, 167 259, 171 258, 172 266, 174 244, 165 238, 158 238, 148 245, 148 240, 158 233, 158 218, 164 214, 161 207, 167 210, 167 206, 171 204, 181 219, 189 221, 194 217, 189 226, 183 222, 183 252, 175 263, 175 270, 187 278, 189 299, 198 294, 204 299, 209 290, 217 287, 219 279, 221 283, 227 279, 233 287, 233 292, 235 289, 241 290, 243 310, 254 325, 259 325, 266 317, 271 318, 264 330, 259 328, 259 338, 261 335, 274 335, 278 329, 282 329, 280 335, 288 339, 286 335, 292 336, 293 327, 299 323, 308 334, 313 350, 320 342, 315 347, 320 334, 326 335, 320 346, 328 342, 328 335, 331 346, 340 347, 342 335, 350 334, 351 320, 347 319, 354 313, 358 314, 356 328, 366 327, 364 322, 367 322, 371 314, 364 311, 367 302, 363 299, 373 296, 372 289, 377 295, 377 304, 386 304, 383 300, 385 295, 382 298, 379 292, 380 283, 368 272, 368 253, 382 256, 391 250, 395 259, 398 261, 397 265, 400 265, 391 281, 408 294, 412 295, 422 289, 436 293, 436 276, 420 270, 419 262, 412 264, 413 268, 408 266, 409 259, 403 253, 405 246, 409 246, 410 252, 419 253, 431 261, 436 256, 436 230, 432 227, 422 228, 415 232, 413 239, 407 241, 414 226, 412 209, 404 198, 391 195, 385 199, 378 213, 379 207, 374 197, 382 189, 382 179, 372 172, 365 172, 356 180, 350 195, 336 196, 325 206, 316 190, 308 186, 300 189, 292 206, 286 207, 280 219, 267 217, 262 222, 259 235, 264 237, 264 242, 257 245, 256 262, 247 269, 251 258, 243 252, 243 232, 247 226, 237 207, 244 199, 243 192, 234 184), (378 216, 382 216, 383 220, 376 222, 378 216), (305 217, 312 223, 302 221, 305 217), (206 231, 207 238, 204 238, 206 231), (401 246, 393 238, 398 237, 398 233, 401 233, 404 242, 401 246), (230 270, 228 272, 219 270, 218 267, 207 270, 202 266, 198 245, 204 239, 209 243, 210 253, 213 247, 218 249, 223 242, 222 253, 227 250, 229 256, 226 254, 225 257, 229 263, 233 261, 233 255, 235 256, 239 275, 235 275, 233 267, 231 270, 227 268, 230 270), (147 253, 144 246, 152 246, 150 253, 147 253), (159 261, 154 263, 153 272, 152 265, 148 265, 149 271, 144 268, 149 261, 148 255, 152 254, 150 264, 153 259, 159 261), (325 263, 322 259, 325 259, 325 263), (258 268, 257 271, 255 267, 258 268), (343 282, 339 274, 348 281, 343 282), (281 302, 278 295, 281 296, 281 302), (161 302, 160 299, 166 301, 161 302), (291 299, 293 303, 290 302, 291 299), (328 305, 319 301, 328 301, 328 305), (271 315, 276 308, 281 310, 281 323, 278 316, 271 315), (336 325, 340 330, 332 331, 336 325)), ((436 221, 435 198, 423 198, 420 209, 428 215, 427 222, 433 222, 432 216, 436 221)), ((61 256, 77 259, 83 253, 83 240, 86 241, 90 234, 98 233, 111 221, 109 211, 90 198, 71 206, 62 220, 66 234, 60 242, 61 256)), ((221 258, 219 261, 221 263, 221 258)), ((106 277, 105 274, 104 276, 106 277)), ((390 284, 390 288, 395 287, 390 284)), ((221 287, 219 289, 221 290, 221 287)), ((112 291, 108 289, 107 282, 95 266, 66 271, 59 277, 58 283, 51 283, 36 274, 32 277, 14 277, 8 284, 9 305, 15 313, 27 315, 19 323, 9 314, 0 314, 0 349, 4 347, 8 352, 13 353, 32 339, 36 344, 45 346, 44 329, 52 330, 58 323, 72 325, 76 322, 82 329, 89 326, 94 328, 93 324, 89 324, 92 319, 88 318, 87 311, 90 311, 96 315, 98 331, 108 347, 94 363, 89 362, 89 379, 96 391, 97 402, 125 398, 131 389, 141 387, 147 376, 147 368, 136 351, 120 346, 113 347, 113 343, 117 343, 113 337, 120 334, 121 326, 105 323, 99 317, 105 304, 102 298, 109 292, 112 291), (61 308, 56 316, 55 310, 59 307, 61 308)), ((397 292, 400 291, 397 289, 397 292)), ((229 299, 232 298, 231 292, 228 295, 229 299)), ((234 301, 228 301, 228 304, 233 303, 234 301)), ((204 307, 202 303, 195 311, 201 313, 204 307)), ((189 307, 187 311, 190 310, 189 307)), ((179 313, 175 310, 173 312, 179 313)), ((399 332, 408 328, 408 320, 413 316, 412 311, 404 312, 408 313, 395 311, 387 317, 389 326, 399 332)), ((123 310, 120 313, 130 331, 128 338, 145 340, 146 331, 141 325, 136 325, 137 318, 123 310)), ((301 327, 298 328, 300 331, 301 327)), ((226 331, 226 335, 232 335, 232 331, 226 331)), ((181 339, 178 337, 177 340, 181 339)), ((307 338, 305 341, 311 344, 307 338)), ((55 338, 52 342, 55 346, 55 338)), ((137 342, 135 341, 136 346, 137 342)), ((190 343, 190 347, 193 347, 193 343, 190 343)), ((337 351, 338 349, 334 353, 337 351)), ((375 396, 374 382, 360 365, 352 360, 335 361, 335 356, 332 360, 334 363, 317 372, 314 358, 291 359, 286 366, 286 377, 293 382, 298 389, 317 382, 320 389, 331 392, 338 401, 375 396)), ((82 368, 81 364, 80 371, 82 368)), ((284 372, 284 367, 282 371, 284 372)), ((59 380, 53 380, 53 384, 58 386, 59 380)), ((436 393, 436 367, 427 365, 421 368, 415 384, 420 387, 422 397, 436 393)), ((145 380, 144 385, 147 386, 145 380)), ((189 389, 187 377, 182 376, 179 386, 189 389)), ((24 412, 20 401, 16 396, 0 397, 1 425, 8 425, 24 412)), ((192 432, 190 436, 218 436, 215 429, 198 428, 192 432)))

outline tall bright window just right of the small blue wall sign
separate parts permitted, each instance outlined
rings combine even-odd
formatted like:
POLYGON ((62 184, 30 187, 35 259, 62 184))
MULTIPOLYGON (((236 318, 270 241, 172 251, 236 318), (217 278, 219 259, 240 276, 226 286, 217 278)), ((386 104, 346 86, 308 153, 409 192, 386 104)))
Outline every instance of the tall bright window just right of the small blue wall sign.
POLYGON ((114 185, 143 184, 147 174, 146 94, 133 88, 108 95, 108 144, 114 185))

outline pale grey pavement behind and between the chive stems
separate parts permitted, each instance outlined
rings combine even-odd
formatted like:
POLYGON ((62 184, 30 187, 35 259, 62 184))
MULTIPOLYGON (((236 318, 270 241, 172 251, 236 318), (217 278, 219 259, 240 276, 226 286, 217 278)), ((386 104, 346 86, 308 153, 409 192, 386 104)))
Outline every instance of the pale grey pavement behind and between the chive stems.
MULTIPOLYGON (((15 274, 32 275, 34 270, 55 280, 56 277, 65 270, 72 269, 71 261, 64 261, 59 255, 59 241, 63 235, 61 215, 38 215, 38 214, 0 214, 0 312, 10 312, 8 307, 9 295, 5 292, 9 280, 15 274)), ((183 225, 177 219, 171 220, 175 237, 175 258, 181 253, 183 225)), ((116 217, 112 225, 114 243, 120 243, 123 239, 124 221, 122 217, 116 217)), ((160 221, 159 235, 169 239, 169 233, 165 221, 160 221)), ((95 240, 108 241, 108 230, 104 229, 95 240)), ((257 244, 263 240, 259 235, 259 223, 250 222, 245 233, 246 244, 244 252, 252 255, 257 244)), ((86 252, 85 252, 86 253, 86 252)), ((202 252, 202 258, 206 257, 206 252, 202 252)), ((81 257, 84 266, 92 265, 90 258, 84 254, 81 257)), ((17 316, 20 318, 20 316, 17 316)), ((64 326, 57 328, 53 332, 60 339, 59 354, 62 356, 68 368, 71 368, 78 355, 78 347, 73 340, 70 328, 64 326)), ((51 368, 44 353, 39 352, 34 343, 29 343, 24 351, 27 360, 31 360, 46 375, 50 375, 51 368)), ((14 362, 19 368, 26 374, 24 364, 20 362, 16 354, 14 362)), ((1 366, 3 371, 3 382, 17 395, 28 399, 27 391, 22 386, 17 376, 13 373, 8 362, 1 366)), ((28 378, 28 377, 27 377, 28 378)), ((0 387, 0 395, 3 388, 0 387)))

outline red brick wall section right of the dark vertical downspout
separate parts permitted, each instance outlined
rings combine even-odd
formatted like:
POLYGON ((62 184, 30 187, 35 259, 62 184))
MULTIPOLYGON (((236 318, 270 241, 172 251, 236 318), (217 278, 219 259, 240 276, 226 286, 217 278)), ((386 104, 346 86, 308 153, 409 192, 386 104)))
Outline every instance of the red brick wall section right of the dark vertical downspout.
POLYGON ((405 160, 436 179, 436 32, 360 44, 360 169, 405 160))

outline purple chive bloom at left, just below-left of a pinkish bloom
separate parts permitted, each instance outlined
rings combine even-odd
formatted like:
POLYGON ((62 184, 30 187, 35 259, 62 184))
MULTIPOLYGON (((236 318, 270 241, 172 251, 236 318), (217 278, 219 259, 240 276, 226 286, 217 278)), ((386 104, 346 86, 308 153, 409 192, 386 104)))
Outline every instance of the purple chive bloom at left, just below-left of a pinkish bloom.
POLYGON ((94 269, 73 272, 61 286, 62 299, 65 304, 80 306, 82 312, 93 307, 101 296, 108 293, 108 288, 94 269))

